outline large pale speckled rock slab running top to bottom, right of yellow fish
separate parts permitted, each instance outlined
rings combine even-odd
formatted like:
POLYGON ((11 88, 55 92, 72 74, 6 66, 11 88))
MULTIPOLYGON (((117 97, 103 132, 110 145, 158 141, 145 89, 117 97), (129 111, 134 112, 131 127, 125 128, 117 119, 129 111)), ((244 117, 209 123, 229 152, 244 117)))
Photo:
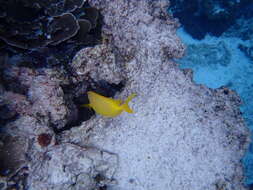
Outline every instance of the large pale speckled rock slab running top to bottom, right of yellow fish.
POLYGON ((167 1, 90 3, 104 16, 103 33, 127 79, 118 97, 137 93, 136 113, 93 117, 61 138, 118 155, 117 184, 108 189, 246 189, 240 160, 249 133, 241 101, 229 89, 194 84, 191 71, 169 60, 184 47, 167 1))

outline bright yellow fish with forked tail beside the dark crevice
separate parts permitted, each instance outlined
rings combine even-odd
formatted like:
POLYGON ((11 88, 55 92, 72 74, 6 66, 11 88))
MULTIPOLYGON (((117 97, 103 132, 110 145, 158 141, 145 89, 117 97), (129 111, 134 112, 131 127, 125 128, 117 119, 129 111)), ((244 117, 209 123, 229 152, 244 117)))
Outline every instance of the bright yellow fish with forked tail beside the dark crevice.
POLYGON ((90 103, 83 106, 94 109, 95 112, 100 115, 106 117, 115 117, 121 114, 123 111, 133 113, 133 110, 128 106, 128 102, 130 102, 135 96, 136 94, 132 94, 126 99, 125 102, 123 102, 121 100, 114 100, 112 98, 89 91, 88 99, 90 103))

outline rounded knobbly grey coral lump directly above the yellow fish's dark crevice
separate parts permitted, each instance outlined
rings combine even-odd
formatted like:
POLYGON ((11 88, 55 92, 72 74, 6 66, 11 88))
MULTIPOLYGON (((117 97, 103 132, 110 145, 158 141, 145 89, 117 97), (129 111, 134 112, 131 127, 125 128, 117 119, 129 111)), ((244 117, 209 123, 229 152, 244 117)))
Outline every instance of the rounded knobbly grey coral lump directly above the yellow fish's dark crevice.
POLYGON ((120 75, 122 66, 116 64, 112 49, 106 45, 82 49, 70 64, 72 72, 79 80, 91 77, 94 81, 105 80, 119 84, 123 80, 120 75))

